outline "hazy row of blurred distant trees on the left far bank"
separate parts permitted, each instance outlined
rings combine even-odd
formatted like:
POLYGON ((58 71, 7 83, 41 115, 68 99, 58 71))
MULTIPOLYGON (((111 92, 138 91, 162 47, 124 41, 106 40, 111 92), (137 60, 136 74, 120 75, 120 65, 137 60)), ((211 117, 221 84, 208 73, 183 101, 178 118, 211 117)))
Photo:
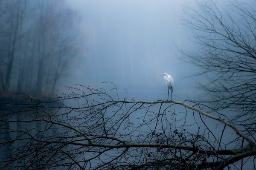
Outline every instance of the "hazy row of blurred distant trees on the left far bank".
POLYGON ((52 94, 77 54, 76 14, 61 0, 0 1, 0 92, 52 94))

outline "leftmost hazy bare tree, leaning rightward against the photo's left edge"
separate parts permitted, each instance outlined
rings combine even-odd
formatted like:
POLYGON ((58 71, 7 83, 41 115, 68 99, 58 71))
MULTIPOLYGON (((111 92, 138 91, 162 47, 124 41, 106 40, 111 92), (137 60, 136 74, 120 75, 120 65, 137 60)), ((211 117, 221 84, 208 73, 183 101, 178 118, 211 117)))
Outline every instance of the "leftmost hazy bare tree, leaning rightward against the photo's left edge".
POLYGON ((22 36, 21 27, 26 10, 26 1, 3 1, 3 12, 1 14, 0 48, 1 48, 1 70, 0 80, 2 91, 8 91, 11 84, 13 68, 15 67, 15 55, 18 42, 22 36), (8 11, 8 12, 7 12, 8 11))

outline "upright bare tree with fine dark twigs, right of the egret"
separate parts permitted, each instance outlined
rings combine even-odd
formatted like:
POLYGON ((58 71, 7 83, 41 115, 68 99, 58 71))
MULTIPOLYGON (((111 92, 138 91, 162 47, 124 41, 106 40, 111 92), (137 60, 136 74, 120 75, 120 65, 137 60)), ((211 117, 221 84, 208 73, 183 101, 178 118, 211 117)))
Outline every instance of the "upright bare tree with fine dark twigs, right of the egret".
MULTIPOLYGON (((194 33, 195 51, 181 51, 189 62, 202 68, 197 76, 205 91, 199 102, 231 111, 233 121, 255 131, 256 120, 256 1, 231 1, 226 8, 216 3, 185 7, 184 24, 194 33), (205 77, 205 81, 202 79, 205 77)), ((187 60, 186 60, 187 61, 187 60)))

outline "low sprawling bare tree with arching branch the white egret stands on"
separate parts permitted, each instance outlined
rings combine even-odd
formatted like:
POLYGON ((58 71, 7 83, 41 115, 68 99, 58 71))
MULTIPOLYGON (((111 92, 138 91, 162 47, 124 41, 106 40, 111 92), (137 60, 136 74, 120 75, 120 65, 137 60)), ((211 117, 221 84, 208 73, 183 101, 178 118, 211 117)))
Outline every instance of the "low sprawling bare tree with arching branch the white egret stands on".
POLYGON ((253 136, 205 105, 69 89, 49 100, 1 103, 1 169, 222 170, 255 159, 253 136))

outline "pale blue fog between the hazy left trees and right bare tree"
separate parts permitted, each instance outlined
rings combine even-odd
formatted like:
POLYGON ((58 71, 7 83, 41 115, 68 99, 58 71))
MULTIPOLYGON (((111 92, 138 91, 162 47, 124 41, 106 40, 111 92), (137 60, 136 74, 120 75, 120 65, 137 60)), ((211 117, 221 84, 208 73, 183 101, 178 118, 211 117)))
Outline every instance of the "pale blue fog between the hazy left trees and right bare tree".
POLYGON ((175 83, 173 98, 184 99, 196 72, 178 59, 178 48, 193 48, 189 29, 181 24, 186 1, 67 1, 81 16, 85 54, 70 85, 104 87, 114 82, 120 93, 136 99, 166 99, 163 77, 175 83), (189 82, 190 81, 190 82, 189 82))

